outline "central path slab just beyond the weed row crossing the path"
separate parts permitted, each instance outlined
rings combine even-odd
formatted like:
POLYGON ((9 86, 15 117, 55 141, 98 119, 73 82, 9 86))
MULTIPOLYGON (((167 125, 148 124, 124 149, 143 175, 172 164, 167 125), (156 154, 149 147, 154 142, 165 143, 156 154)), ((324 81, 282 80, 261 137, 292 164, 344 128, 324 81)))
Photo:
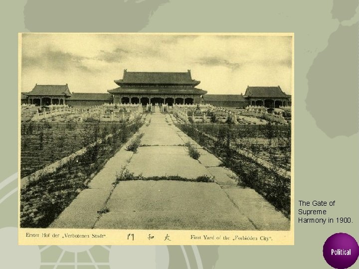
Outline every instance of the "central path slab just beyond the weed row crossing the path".
POLYGON ((210 175, 197 160, 189 157, 184 146, 140 146, 127 169, 144 177, 179 175, 196 178, 210 175))

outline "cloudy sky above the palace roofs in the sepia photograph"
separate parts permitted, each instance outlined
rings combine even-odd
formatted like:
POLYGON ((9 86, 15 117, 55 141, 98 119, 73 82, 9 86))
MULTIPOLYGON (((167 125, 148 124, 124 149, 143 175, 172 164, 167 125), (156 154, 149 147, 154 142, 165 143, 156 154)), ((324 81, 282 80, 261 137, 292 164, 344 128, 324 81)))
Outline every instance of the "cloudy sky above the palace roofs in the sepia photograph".
POLYGON ((123 70, 186 72, 208 94, 250 86, 292 87, 292 37, 217 34, 32 34, 21 39, 21 91, 66 84, 71 92, 107 92, 123 70))

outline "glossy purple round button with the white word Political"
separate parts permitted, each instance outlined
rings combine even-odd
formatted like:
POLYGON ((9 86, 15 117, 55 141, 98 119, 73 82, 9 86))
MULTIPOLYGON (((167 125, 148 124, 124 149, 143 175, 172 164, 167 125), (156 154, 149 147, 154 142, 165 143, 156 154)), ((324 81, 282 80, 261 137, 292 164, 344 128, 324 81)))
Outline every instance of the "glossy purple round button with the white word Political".
POLYGON ((354 237, 338 233, 330 236, 323 246, 323 257, 333 268, 346 269, 355 264, 359 246, 354 237))

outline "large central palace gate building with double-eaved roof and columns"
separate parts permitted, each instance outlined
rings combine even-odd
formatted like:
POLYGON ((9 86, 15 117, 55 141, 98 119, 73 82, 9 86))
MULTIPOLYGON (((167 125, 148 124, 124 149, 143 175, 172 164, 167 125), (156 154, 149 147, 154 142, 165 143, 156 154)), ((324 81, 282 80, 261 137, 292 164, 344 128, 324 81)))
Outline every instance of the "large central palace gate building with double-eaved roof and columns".
POLYGON ((201 96, 206 91, 195 88, 200 81, 187 72, 128 72, 124 70, 123 78, 115 80, 119 86, 108 90, 113 95, 113 102, 119 104, 161 105, 200 104, 201 96))

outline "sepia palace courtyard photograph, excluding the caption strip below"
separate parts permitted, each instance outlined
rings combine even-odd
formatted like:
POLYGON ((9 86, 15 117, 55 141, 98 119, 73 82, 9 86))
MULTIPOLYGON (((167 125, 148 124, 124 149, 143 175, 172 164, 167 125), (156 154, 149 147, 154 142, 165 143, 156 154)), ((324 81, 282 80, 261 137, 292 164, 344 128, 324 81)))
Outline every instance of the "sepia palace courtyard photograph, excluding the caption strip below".
POLYGON ((292 233, 293 48, 20 33, 19 228, 292 233))

